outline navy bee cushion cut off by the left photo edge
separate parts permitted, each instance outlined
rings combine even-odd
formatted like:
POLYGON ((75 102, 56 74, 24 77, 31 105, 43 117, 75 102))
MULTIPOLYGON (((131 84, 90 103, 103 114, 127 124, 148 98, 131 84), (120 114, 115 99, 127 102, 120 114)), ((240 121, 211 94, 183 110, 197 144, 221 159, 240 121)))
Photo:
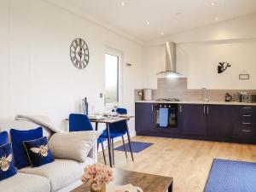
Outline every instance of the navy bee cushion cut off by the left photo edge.
POLYGON ((11 143, 4 144, 0 146, 0 181, 12 177, 16 173, 12 145, 11 143))

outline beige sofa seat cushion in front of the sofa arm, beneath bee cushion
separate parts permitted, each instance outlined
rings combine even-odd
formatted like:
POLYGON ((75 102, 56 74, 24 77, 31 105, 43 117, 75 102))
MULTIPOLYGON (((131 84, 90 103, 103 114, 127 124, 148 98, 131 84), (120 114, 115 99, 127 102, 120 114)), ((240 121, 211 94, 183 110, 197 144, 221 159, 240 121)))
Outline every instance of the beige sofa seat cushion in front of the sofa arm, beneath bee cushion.
POLYGON ((59 160, 39 167, 25 167, 19 172, 35 174, 49 179, 51 191, 67 187, 67 185, 79 180, 84 173, 84 166, 93 164, 94 160, 87 158, 85 163, 75 160, 59 160))

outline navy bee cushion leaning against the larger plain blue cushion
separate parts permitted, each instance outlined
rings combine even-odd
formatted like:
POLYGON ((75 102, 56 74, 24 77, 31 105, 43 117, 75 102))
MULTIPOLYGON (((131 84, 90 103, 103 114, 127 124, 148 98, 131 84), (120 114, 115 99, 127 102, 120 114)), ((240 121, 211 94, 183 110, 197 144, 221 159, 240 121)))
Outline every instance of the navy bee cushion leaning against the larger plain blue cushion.
POLYGON ((25 141, 23 144, 32 167, 43 166, 55 160, 49 150, 46 137, 25 141))

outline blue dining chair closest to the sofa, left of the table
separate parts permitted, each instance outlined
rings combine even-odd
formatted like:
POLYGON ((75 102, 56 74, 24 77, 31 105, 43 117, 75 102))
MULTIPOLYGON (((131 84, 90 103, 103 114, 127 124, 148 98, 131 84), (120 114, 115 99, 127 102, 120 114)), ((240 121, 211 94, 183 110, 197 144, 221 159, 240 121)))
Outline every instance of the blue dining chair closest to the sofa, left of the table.
MULTIPOLYGON (((93 127, 90 123, 90 119, 87 117, 87 115, 84 114, 77 114, 77 113, 71 113, 69 115, 69 131, 93 131, 93 127)), ((99 144, 102 144, 102 154, 104 158, 104 163, 107 165, 106 156, 105 156, 105 150, 103 146, 103 142, 107 140, 106 137, 100 136, 97 139, 97 149, 99 149, 99 144)))

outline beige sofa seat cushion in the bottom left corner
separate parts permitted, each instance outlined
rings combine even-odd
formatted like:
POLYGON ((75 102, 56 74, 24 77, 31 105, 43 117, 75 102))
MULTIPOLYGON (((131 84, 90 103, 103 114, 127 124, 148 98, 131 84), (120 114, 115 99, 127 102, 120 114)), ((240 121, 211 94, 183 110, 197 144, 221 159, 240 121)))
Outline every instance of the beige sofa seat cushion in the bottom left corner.
POLYGON ((4 192, 49 192, 49 180, 37 175, 17 173, 0 182, 0 190, 4 192))

